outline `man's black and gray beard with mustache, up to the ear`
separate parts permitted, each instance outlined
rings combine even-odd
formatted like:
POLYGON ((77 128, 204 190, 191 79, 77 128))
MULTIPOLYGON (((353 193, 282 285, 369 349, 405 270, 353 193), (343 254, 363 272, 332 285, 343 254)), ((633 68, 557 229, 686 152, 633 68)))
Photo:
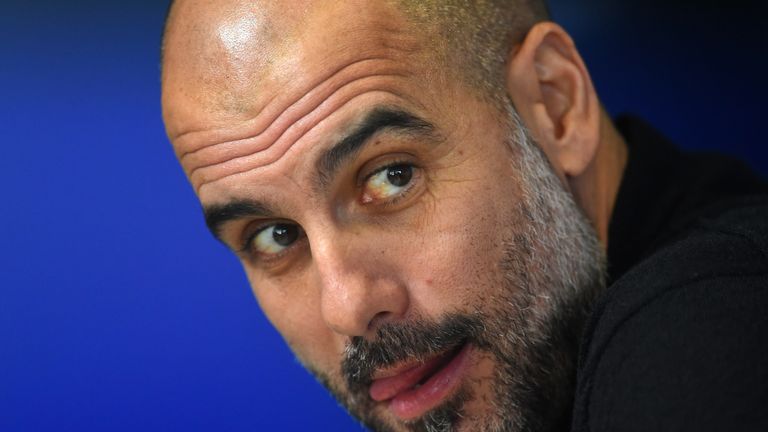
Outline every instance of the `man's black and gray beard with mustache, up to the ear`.
POLYGON ((352 338, 342 362, 346 391, 313 371, 372 430, 395 430, 372 414, 367 389, 376 369, 427 359, 466 342, 495 360, 493 414, 468 417, 464 406, 473 394, 462 388, 402 429, 450 432, 464 425, 473 431, 512 432, 569 426, 579 340, 594 299, 605 287, 605 254, 547 158, 511 106, 508 111, 508 144, 515 154, 511 163, 523 182, 514 216, 525 223, 505 239, 503 289, 493 296, 478 294, 474 310, 466 313, 447 314, 437 322, 389 323, 373 341, 352 338))

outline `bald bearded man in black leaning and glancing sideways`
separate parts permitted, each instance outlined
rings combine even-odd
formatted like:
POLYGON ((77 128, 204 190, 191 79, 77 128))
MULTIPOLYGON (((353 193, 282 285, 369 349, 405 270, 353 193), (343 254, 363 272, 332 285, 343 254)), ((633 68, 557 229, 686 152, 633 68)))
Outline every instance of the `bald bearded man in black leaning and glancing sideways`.
POLYGON ((547 19, 177 1, 163 111, 208 226, 371 429, 768 427, 766 186, 615 126, 547 19))

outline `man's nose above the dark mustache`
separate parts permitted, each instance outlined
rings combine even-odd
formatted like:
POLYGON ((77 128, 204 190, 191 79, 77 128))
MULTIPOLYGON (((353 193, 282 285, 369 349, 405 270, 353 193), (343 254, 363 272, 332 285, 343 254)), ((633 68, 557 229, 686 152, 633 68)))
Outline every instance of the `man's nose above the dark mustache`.
POLYGON ((405 315, 408 289, 393 258, 374 250, 370 242, 348 237, 329 237, 313 245, 320 310, 329 328, 347 336, 366 336, 405 315))

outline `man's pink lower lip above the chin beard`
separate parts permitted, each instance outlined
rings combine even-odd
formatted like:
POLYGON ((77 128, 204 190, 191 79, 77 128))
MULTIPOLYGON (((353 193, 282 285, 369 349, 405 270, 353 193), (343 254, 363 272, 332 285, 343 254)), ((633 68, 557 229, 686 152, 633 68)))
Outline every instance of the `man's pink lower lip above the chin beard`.
POLYGON ((401 420, 413 420, 439 406, 454 393, 469 367, 469 344, 448 364, 417 389, 404 391, 389 402, 389 409, 401 420))

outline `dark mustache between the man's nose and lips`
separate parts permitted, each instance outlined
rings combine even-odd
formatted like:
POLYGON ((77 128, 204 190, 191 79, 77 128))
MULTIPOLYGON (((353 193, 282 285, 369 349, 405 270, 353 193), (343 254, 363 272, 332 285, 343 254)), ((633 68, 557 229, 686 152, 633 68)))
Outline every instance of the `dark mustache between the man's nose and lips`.
POLYGON ((387 323, 373 340, 353 337, 347 344, 341 372, 353 393, 364 392, 373 374, 403 361, 423 361, 467 341, 479 342, 485 329, 475 315, 447 314, 439 322, 416 319, 387 323))

